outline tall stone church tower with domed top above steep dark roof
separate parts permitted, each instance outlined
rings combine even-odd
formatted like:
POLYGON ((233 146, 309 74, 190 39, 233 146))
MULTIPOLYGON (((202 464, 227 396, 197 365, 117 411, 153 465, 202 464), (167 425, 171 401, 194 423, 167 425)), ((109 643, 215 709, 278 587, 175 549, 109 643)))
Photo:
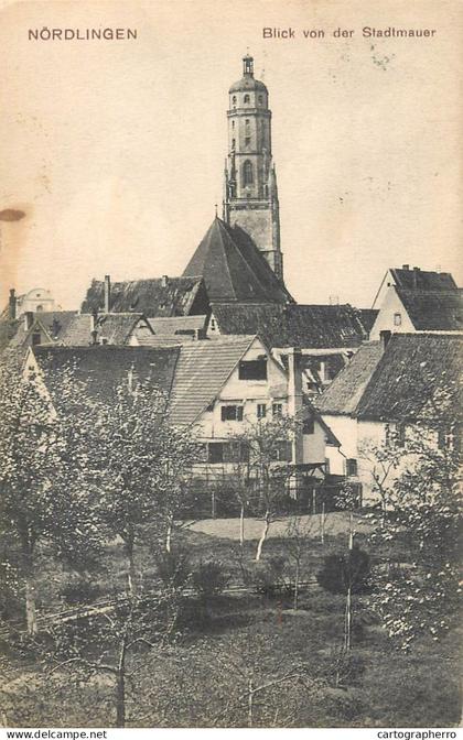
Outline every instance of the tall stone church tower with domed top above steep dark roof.
POLYGON ((271 159, 268 90, 254 77, 254 59, 243 59, 243 77, 229 89, 228 156, 224 221, 246 231, 283 281, 277 176, 271 159))

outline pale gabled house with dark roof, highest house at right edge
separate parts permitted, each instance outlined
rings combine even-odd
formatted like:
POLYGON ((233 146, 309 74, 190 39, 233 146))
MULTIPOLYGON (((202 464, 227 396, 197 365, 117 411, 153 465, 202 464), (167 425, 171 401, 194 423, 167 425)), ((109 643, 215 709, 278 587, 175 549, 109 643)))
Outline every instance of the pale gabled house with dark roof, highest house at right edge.
POLYGON ((388 270, 375 298, 378 315, 369 338, 389 331, 461 331, 463 292, 448 272, 428 272, 405 264, 388 270))

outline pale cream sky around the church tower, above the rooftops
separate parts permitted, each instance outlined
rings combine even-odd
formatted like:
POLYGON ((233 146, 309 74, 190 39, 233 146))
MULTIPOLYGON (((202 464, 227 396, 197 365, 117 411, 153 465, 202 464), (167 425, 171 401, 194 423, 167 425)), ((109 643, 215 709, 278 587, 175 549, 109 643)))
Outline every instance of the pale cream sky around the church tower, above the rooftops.
POLYGON ((0 2, 0 301, 179 275, 222 202, 228 87, 269 88, 287 286, 370 306, 388 266, 463 284, 463 4, 452 0, 0 2), (435 29, 366 39, 363 26, 435 29), (137 29, 29 41, 29 29, 137 29), (295 30, 263 40, 262 28, 295 30), (334 39, 337 28, 355 30, 334 39), (304 29, 323 29, 306 40, 304 29))

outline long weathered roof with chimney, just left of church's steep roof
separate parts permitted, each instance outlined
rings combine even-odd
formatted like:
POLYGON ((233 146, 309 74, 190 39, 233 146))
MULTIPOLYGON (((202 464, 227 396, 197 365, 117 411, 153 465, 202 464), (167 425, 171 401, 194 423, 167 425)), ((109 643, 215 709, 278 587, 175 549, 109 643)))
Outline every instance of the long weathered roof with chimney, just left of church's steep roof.
MULTIPOLYGON (((201 278, 153 278, 111 283, 111 313, 142 313, 144 316, 185 316, 193 306, 203 283, 201 278)), ((93 280, 80 311, 103 311, 105 283, 93 280)))

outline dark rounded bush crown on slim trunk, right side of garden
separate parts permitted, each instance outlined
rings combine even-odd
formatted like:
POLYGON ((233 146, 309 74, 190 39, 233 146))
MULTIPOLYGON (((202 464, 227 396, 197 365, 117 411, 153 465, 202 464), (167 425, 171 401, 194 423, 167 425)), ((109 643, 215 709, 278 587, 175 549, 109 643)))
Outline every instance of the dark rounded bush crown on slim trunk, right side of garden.
POLYGON ((332 554, 324 558, 316 575, 320 586, 331 594, 364 594, 369 589, 369 555, 354 545, 345 555, 332 554))

